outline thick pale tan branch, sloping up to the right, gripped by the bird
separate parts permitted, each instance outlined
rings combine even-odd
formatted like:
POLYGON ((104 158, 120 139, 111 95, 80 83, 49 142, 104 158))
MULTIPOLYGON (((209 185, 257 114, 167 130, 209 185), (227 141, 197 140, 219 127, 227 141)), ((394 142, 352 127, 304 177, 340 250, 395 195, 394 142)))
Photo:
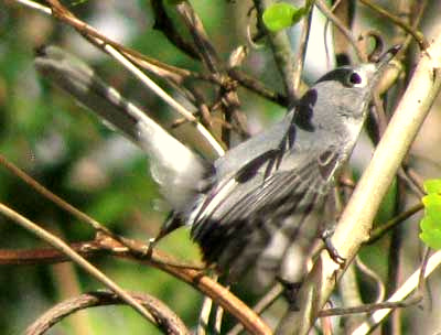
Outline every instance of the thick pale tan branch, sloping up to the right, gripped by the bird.
MULTIPOLYGON (((381 199, 439 94, 440 60, 441 35, 421 54, 397 111, 342 214, 332 244, 347 261, 367 240, 381 199)), ((327 251, 323 251, 299 292, 300 310, 287 312, 278 334, 306 334, 343 271, 327 251)))

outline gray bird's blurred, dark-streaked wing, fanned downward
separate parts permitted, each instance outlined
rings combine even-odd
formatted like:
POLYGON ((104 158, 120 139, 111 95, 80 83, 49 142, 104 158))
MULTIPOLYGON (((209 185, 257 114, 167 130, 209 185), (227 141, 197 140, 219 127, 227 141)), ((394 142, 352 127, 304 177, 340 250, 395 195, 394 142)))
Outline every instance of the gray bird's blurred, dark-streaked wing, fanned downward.
POLYGON ((205 260, 240 274, 282 234, 278 267, 303 234, 310 214, 320 207, 340 161, 332 147, 316 156, 297 152, 287 158, 278 150, 267 151, 220 181, 193 217, 192 236, 205 260))

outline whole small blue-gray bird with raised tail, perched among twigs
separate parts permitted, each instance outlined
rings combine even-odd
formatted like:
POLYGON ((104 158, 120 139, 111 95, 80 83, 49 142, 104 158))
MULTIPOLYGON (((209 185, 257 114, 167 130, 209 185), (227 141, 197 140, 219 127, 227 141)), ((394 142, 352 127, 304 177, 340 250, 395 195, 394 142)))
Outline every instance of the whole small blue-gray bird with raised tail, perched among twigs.
POLYGON ((230 280, 250 268, 263 284, 298 281, 334 177, 362 130, 375 85, 397 53, 320 78, 286 117, 208 163, 170 136, 92 68, 54 46, 36 69, 119 129, 151 158, 152 176, 174 213, 230 280))

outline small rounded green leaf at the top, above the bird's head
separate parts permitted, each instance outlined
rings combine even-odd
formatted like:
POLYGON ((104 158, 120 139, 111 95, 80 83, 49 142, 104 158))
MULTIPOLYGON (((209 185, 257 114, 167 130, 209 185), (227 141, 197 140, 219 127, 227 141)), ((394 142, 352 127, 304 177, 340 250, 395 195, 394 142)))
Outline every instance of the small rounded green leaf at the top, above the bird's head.
POLYGON ((269 31, 278 32, 299 22, 306 11, 304 7, 297 8, 280 2, 268 7, 263 12, 262 20, 269 31))

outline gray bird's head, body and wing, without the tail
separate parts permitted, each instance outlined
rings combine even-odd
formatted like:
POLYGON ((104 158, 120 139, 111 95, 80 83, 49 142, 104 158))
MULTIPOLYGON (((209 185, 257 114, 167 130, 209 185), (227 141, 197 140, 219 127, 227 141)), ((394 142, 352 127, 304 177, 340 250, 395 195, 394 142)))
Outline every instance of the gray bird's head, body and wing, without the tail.
POLYGON ((232 280, 255 263, 263 284, 300 280, 379 76, 375 64, 330 72, 283 120, 215 162, 213 186, 189 217, 208 262, 232 280))

